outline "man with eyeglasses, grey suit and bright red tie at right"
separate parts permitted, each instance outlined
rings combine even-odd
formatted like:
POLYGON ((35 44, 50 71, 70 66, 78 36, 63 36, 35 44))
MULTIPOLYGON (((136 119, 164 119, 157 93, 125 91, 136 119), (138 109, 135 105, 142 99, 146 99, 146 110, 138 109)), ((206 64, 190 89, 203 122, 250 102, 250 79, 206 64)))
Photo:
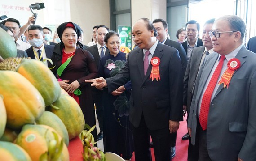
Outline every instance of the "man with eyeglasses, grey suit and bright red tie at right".
POLYGON ((256 54, 243 46, 245 30, 227 15, 209 32, 215 52, 199 71, 188 122, 199 161, 256 161, 256 54))

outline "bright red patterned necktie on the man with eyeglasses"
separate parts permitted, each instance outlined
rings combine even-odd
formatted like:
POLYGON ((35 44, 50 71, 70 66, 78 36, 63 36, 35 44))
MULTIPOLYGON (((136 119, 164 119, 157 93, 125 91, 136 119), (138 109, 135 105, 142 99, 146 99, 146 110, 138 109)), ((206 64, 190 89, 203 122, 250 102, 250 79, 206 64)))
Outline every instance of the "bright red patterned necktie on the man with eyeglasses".
POLYGON ((210 108, 210 104, 211 104, 212 92, 217 84, 218 79, 219 79, 224 59, 225 59, 225 55, 221 55, 219 64, 218 64, 217 68, 215 69, 205 92, 203 93, 201 109, 200 109, 200 114, 199 114, 199 122, 200 122, 200 125, 202 126, 203 130, 206 130, 206 128, 207 128, 207 120, 208 120, 208 113, 209 113, 209 108, 210 108))

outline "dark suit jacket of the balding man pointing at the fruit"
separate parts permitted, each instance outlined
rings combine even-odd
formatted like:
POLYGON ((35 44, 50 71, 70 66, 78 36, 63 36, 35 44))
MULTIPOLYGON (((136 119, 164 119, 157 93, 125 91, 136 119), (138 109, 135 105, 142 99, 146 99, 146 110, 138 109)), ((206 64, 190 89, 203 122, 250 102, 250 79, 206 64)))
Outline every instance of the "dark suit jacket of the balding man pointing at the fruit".
POLYGON ((153 55, 160 59, 161 80, 158 81, 150 79, 151 64, 144 76, 143 57, 143 50, 140 48, 128 54, 120 73, 106 79, 109 93, 131 80, 129 119, 134 127, 139 126, 142 114, 150 130, 168 127, 169 120, 182 121, 183 82, 178 51, 158 42, 153 55))

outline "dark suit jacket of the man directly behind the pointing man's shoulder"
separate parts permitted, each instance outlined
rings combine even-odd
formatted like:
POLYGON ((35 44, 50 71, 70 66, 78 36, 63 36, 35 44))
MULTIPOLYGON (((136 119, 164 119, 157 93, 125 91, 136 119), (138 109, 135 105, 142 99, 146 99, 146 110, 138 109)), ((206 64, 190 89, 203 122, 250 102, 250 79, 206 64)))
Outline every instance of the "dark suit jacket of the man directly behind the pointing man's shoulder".
POLYGON ((170 40, 168 38, 166 39, 164 44, 168 45, 170 47, 174 47, 175 49, 177 49, 179 51, 179 55, 181 58, 182 72, 183 72, 183 77, 184 77, 186 68, 187 68, 187 64, 188 64, 186 51, 184 50, 184 48, 182 47, 180 42, 176 42, 176 41, 170 40))

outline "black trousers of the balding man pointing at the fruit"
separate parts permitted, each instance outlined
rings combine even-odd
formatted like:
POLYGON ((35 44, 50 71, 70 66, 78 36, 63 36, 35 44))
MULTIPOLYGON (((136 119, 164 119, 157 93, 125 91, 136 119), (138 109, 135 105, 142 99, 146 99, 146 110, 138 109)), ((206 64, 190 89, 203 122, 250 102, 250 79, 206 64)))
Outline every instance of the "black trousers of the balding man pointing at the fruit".
POLYGON ((169 127, 153 131, 149 130, 142 114, 139 127, 132 125, 132 133, 136 161, 152 161, 150 136, 154 144, 155 161, 171 161, 169 127))

